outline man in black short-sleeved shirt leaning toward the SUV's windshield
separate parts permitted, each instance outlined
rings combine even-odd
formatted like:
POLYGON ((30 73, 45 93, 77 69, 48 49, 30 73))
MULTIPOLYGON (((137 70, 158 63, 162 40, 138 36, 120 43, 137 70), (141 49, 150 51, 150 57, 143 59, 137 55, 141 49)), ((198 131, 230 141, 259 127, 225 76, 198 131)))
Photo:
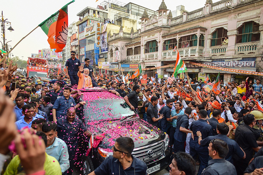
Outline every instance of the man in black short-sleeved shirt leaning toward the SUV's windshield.
POLYGON ((123 99, 130 106, 131 110, 135 110, 137 112, 138 108, 138 97, 137 94, 140 92, 140 85, 134 85, 133 91, 126 95, 123 99))

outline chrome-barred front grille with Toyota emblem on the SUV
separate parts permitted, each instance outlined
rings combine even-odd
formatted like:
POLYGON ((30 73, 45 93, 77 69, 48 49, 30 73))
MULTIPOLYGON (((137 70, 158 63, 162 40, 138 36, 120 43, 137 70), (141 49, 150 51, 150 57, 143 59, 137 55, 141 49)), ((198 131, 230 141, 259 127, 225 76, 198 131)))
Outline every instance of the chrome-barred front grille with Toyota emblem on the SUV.
POLYGON ((140 160, 144 161, 146 164, 150 163, 150 161, 157 159, 163 155, 164 152, 164 141, 161 140, 157 143, 153 143, 151 145, 142 146, 135 148, 132 152, 132 155, 140 160), (153 151, 153 154, 152 154, 153 151), (149 156, 147 153, 151 156, 149 156))

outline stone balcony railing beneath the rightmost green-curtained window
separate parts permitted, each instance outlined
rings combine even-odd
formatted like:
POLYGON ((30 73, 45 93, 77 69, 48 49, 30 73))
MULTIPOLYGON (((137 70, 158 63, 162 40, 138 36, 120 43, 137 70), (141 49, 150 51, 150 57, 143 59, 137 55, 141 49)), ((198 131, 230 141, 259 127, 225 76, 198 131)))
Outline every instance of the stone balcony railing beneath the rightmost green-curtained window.
POLYGON ((252 41, 247 43, 239 43, 236 44, 235 50, 236 54, 247 54, 247 53, 255 53, 258 47, 259 41, 252 41))

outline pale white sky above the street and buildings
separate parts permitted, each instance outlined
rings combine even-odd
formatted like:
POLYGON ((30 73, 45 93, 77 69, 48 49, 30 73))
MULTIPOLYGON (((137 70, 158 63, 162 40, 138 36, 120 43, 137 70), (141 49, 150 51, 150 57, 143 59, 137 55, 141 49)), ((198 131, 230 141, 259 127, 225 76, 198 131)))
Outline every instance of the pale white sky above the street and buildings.
MULTIPOLYGON (((14 47, 17 42, 27 35, 31 30, 33 30, 38 24, 47 19, 51 14, 54 14, 60 8, 62 8, 66 3, 71 0, 4 0, 1 2, 1 11, 3 11, 4 19, 8 19, 11 22, 11 26, 14 31, 10 32, 9 26, 5 29, 6 41, 11 41, 10 44, 14 47)), ((134 4, 141 5, 145 8, 151 10, 157 10, 161 5, 161 0, 119 0, 124 3, 133 2, 134 4)), ((213 0, 213 2, 218 2, 219 0, 213 0)), ((78 21, 77 14, 83 10, 85 7, 96 8, 97 5, 103 2, 99 0, 85 1, 76 0, 74 3, 70 4, 68 7, 69 24, 73 21, 78 21)), ((206 0, 184 0, 184 1, 171 1, 164 0, 167 9, 174 11, 176 6, 184 5, 186 11, 194 11, 198 8, 202 8, 206 0), (176 3, 176 4, 175 4, 176 3)), ((2 24, 2 23, 1 23, 2 24)), ((1 33, 2 35, 2 33, 1 33)), ((3 38, 1 36, 1 42, 3 38)), ((2 46, 0 46, 2 49, 2 46)), ((17 47, 12 51, 14 56, 18 56, 20 59, 27 60, 27 57, 31 53, 38 53, 38 50, 49 48, 47 42, 47 35, 39 27, 34 32, 32 32, 28 37, 26 37, 22 42, 20 42, 17 47), (22 57, 23 56, 23 57, 22 57)))

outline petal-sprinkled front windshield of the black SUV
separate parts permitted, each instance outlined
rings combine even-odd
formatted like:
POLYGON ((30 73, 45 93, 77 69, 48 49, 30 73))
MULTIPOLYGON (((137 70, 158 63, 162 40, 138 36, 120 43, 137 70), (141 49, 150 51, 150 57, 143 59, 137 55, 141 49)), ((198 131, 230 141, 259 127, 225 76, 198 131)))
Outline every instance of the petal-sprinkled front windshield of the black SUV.
POLYGON ((124 103, 123 99, 99 99, 86 102, 84 109, 85 121, 121 119, 134 114, 130 108, 121 105, 124 103))

